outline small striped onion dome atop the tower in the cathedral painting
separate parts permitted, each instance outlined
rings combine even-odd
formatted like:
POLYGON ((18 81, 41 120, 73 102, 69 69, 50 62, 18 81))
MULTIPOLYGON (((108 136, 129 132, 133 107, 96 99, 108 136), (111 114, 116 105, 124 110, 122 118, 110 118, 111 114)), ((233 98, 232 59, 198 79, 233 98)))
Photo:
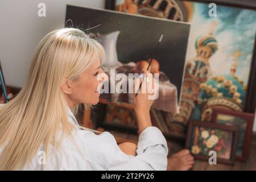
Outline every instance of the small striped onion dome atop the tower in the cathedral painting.
POLYGON ((200 46, 208 46, 210 49, 212 49, 212 53, 215 53, 218 49, 217 40, 210 35, 199 36, 199 38, 196 39, 195 46, 196 49, 200 46))

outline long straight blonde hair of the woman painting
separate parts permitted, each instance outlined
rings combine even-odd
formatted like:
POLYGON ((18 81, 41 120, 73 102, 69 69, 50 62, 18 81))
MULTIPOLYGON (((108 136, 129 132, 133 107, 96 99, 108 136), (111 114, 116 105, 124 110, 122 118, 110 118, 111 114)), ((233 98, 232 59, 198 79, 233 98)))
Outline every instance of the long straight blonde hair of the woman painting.
POLYGON ((40 41, 26 84, 14 100, 0 107, 0 146, 5 146, 0 169, 22 169, 42 144, 48 151, 49 144, 59 146, 72 134, 60 85, 64 78, 76 80, 96 59, 104 59, 104 48, 76 28, 49 32, 40 41))

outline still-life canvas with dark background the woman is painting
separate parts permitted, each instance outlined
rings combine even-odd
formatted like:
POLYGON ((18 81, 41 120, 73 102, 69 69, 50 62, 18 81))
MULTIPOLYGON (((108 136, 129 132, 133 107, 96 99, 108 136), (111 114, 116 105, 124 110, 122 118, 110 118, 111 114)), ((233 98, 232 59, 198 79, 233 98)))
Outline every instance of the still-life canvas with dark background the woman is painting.
MULTIPOLYGON (((102 63, 102 68, 109 75, 109 86, 117 88, 118 82, 122 85, 122 80, 110 77, 111 69, 114 73, 127 76, 139 73, 154 56, 151 73, 159 73, 159 96, 153 107, 177 112, 190 27, 188 23, 75 6, 67 6, 66 20, 69 19, 73 27, 91 28, 88 32, 104 46, 106 61, 102 63), (152 55, 162 34, 162 42, 152 55)), ((132 104, 131 94, 129 96, 120 91, 117 88, 105 98, 132 104)))

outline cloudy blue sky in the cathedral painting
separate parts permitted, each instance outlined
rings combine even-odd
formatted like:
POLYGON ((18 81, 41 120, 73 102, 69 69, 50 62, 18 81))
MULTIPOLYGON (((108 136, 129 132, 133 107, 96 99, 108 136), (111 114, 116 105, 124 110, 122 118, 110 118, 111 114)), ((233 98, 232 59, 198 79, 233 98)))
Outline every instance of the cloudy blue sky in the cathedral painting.
POLYGON ((209 7, 205 3, 194 3, 191 19, 187 60, 196 56, 195 40, 200 35, 207 35, 210 23, 217 22, 213 33, 218 42, 218 51, 209 59, 213 76, 228 75, 234 51, 240 49, 236 75, 248 82, 253 46, 256 32, 256 11, 234 7, 217 6, 217 17, 208 15, 209 7))

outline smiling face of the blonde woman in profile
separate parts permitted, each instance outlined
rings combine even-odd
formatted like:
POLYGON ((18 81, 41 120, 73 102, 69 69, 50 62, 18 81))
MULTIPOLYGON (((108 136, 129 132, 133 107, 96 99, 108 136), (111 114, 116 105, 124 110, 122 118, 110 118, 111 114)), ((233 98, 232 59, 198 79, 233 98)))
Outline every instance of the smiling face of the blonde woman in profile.
POLYGON ((98 104, 100 92, 97 89, 104 81, 99 80, 98 75, 102 73, 104 74, 100 68, 100 61, 96 60, 77 77, 77 80, 71 82, 72 94, 68 94, 68 98, 73 102, 73 106, 80 103, 98 104))

